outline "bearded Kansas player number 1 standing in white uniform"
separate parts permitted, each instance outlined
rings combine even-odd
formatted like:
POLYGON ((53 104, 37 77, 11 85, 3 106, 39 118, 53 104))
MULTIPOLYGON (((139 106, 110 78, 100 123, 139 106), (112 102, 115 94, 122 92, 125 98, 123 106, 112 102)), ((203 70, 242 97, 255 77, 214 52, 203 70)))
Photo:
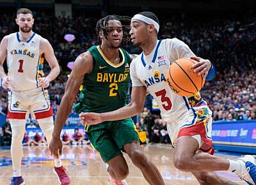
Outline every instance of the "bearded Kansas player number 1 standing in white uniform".
MULTIPOLYGON (((16 23, 19 32, 4 36, 0 44, 0 77, 3 88, 8 92, 8 119, 12 127, 12 185, 25 184, 20 173, 22 159, 22 139, 24 137, 28 114, 36 119, 42 129, 47 144, 52 138, 52 108, 47 88, 49 82, 60 73, 60 66, 54 56, 51 44, 45 38, 33 33, 34 23, 32 12, 26 8, 17 11, 16 23), (44 56, 44 57, 43 57, 44 56), (44 58, 51 67, 44 77, 44 58), (7 61, 8 74, 4 73, 3 63, 7 61)), ((54 158, 54 173, 61 184, 69 184, 70 180, 60 158, 54 158)))

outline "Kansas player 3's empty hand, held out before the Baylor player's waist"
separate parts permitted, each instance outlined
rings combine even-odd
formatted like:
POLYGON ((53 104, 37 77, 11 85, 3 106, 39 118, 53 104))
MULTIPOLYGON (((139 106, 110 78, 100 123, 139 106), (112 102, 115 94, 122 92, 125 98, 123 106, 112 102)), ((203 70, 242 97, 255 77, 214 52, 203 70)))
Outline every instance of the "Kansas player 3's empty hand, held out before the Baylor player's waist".
POLYGON ((99 124, 103 122, 100 114, 94 112, 82 112, 79 114, 79 118, 84 124, 99 124))

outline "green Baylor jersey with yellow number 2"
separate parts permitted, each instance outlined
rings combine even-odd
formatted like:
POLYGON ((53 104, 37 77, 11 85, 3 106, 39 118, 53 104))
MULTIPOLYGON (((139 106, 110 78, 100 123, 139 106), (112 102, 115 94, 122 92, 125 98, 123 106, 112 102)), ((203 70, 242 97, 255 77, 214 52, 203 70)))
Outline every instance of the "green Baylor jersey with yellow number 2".
POLYGON ((109 112, 125 106, 131 58, 124 49, 119 49, 120 60, 114 64, 104 56, 100 46, 88 49, 93 56, 94 67, 84 75, 82 99, 76 105, 76 112, 109 112))

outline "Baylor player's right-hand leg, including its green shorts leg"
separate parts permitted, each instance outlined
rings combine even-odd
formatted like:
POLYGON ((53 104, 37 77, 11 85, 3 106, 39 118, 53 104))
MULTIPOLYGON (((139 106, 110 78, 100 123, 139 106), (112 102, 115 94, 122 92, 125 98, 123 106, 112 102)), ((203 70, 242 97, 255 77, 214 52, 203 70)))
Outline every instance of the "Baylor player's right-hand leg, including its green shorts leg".
POLYGON ((148 160, 140 147, 138 131, 131 119, 113 121, 111 128, 113 139, 119 149, 124 149, 132 159, 132 163, 140 168, 143 176, 149 184, 164 184, 163 178, 156 165, 148 160), (124 137, 125 136, 125 137, 124 137))

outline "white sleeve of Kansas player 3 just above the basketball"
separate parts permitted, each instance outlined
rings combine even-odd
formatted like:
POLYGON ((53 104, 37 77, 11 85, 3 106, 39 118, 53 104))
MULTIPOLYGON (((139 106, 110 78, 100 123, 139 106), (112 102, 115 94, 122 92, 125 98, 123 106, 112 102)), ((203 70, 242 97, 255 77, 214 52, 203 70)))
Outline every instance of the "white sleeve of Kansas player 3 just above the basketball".
POLYGON ((169 54, 170 61, 176 61, 183 57, 196 56, 183 41, 173 38, 166 40, 166 52, 169 54))

